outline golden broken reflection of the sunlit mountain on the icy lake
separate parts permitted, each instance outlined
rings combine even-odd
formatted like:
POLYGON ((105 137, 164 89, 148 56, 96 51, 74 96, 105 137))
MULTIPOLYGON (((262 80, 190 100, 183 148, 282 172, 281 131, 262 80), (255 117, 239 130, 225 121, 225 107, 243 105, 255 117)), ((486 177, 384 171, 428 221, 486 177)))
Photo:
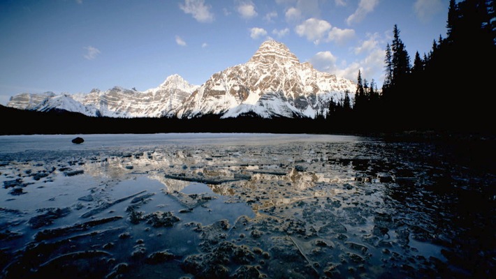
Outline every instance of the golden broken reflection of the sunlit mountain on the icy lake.
MULTIPOLYGON (((208 152, 207 152, 208 153, 208 152)), ((180 179, 166 178, 167 175, 175 174, 177 176, 201 177, 204 179, 232 178, 234 180, 242 179, 236 182, 221 183, 219 185, 210 185, 212 191, 219 195, 233 196, 235 191, 231 188, 231 183, 239 185, 241 188, 250 190, 261 190, 268 187, 268 182, 277 183, 277 193, 284 190, 289 197, 282 197, 268 192, 268 200, 265 204, 286 204, 294 202, 299 198, 299 194, 310 188, 314 188, 319 183, 338 183, 342 179, 335 177, 326 177, 326 174, 312 171, 301 171, 296 168, 267 168, 259 169, 257 165, 238 165, 239 158, 230 157, 228 161, 225 158, 212 158, 205 160, 205 151, 188 151, 183 149, 174 149, 170 151, 150 151, 122 153, 105 158, 95 158, 93 161, 88 160, 82 165, 85 174, 94 177, 112 179, 115 181, 124 181, 133 179, 136 175, 146 175, 149 179, 154 179, 163 184, 164 190, 168 192, 180 192, 191 181, 180 179)), ((263 157, 261 158, 263 160, 263 157)), ((195 181, 195 180, 192 180, 195 181)), ((328 193, 314 193, 315 196, 326 196, 328 193)), ((245 199, 246 197, 240 197, 245 199)), ((249 198, 246 198, 247 200, 249 198)))

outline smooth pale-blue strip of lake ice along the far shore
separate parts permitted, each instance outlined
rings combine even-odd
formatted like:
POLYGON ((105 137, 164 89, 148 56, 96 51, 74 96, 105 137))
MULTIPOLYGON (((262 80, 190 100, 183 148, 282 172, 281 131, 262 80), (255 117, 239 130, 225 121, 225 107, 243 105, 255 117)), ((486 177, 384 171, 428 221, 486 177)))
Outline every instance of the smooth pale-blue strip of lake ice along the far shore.
POLYGON ((289 135, 250 133, 169 133, 84 135, 84 144, 72 144, 76 135, 6 135, 0 136, 0 152, 32 150, 78 151, 125 149, 128 147, 159 147, 170 145, 263 145, 291 142, 349 142, 358 137, 348 135, 289 135))

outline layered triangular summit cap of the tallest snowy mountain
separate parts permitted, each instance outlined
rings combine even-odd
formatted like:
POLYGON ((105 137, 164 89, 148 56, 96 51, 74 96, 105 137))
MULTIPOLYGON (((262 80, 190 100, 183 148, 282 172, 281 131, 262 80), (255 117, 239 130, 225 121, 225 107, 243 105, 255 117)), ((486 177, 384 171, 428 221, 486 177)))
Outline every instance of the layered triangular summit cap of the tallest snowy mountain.
POLYGON ((265 40, 251 59, 251 63, 273 64, 276 62, 282 63, 300 63, 298 57, 289 50, 286 45, 279 43, 276 40, 265 40))

